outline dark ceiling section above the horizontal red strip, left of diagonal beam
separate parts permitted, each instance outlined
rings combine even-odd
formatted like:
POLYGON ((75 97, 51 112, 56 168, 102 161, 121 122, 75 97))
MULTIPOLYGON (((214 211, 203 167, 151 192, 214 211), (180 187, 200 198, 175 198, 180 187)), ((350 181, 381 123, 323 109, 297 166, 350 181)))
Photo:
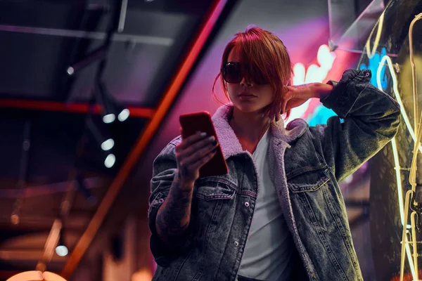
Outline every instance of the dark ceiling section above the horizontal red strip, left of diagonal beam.
MULTIPOLYGON (((103 44, 116 12, 114 2, 1 1, 1 41, 8 42, 0 46, 1 95, 89 100, 98 63, 75 77, 65 71, 103 44)), ((113 36, 103 73, 113 95, 127 105, 157 105, 163 82, 211 2, 128 1, 124 30, 113 36)))

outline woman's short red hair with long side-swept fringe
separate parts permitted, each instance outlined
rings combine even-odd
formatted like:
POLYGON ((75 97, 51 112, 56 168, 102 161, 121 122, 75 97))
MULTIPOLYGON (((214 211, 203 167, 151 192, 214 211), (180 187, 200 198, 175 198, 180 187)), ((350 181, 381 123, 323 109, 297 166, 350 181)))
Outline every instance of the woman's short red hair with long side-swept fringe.
MULTIPOLYGON (((260 27, 251 27, 245 32, 235 34, 224 49, 221 68, 227 63, 231 51, 236 52, 241 60, 242 73, 246 81, 254 81, 254 77, 262 75, 265 81, 269 81, 274 90, 274 103, 281 103, 281 97, 286 93, 286 86, 290 86, 293 69, 286 46, 276 35, 260 27), (260 73, 257 73, 259 70, 260 73)), ((224 96, 230 100, 227 84, 220 71, 215 77, 212 92, 215 95, 215 84, 220 79, 224 96)), ((219 100, 220 101, 220 100, 219 100)), ((221 102, 221 101, 220 101, 221 102)), ((288 117, 289 112, 283 112, 288 117)))

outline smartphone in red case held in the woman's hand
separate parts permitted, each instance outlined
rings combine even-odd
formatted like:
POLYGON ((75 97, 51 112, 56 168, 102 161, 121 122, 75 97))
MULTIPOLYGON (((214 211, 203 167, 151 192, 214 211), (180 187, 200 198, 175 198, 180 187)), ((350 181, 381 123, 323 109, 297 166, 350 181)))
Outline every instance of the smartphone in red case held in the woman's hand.
MULTIPOLYGON (((183 138, 187 138, 200 131, 207 133, 207 136, 214 136, 218 141, 209 112, 193 112, 180 115, 179 122, 183 138)), ((199 176, 221 176, 227 173, 229 173, 229 168, 227 167, 226 159, 224 159, 222 148, 219 145, 214 157, 199 169, 199 176)))

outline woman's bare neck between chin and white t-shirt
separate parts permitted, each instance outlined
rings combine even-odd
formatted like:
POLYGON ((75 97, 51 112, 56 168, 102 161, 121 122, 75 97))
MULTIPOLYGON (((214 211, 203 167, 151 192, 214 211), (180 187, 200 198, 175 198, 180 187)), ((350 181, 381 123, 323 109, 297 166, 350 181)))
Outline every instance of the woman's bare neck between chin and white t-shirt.
POLYGON ((229 124, 238 138, 257 143, 269 128, 269 119, 262 112, 245 113, 234 107, 229 124))

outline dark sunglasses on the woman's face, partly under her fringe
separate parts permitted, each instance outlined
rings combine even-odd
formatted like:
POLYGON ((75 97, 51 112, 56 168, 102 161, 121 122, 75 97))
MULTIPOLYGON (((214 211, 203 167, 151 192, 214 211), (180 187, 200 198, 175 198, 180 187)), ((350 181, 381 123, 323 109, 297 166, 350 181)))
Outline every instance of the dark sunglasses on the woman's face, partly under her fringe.
POLYGON ((241 65, 241 63, 238 62, 228 62, 223 65, 221 71, 223 79, 227 83, 240 83, 243 77, 251 77, 251 80, 258 85, 269 83, 260 70, 254 69, 254 67, 250 67, 246 64, 241 65))

